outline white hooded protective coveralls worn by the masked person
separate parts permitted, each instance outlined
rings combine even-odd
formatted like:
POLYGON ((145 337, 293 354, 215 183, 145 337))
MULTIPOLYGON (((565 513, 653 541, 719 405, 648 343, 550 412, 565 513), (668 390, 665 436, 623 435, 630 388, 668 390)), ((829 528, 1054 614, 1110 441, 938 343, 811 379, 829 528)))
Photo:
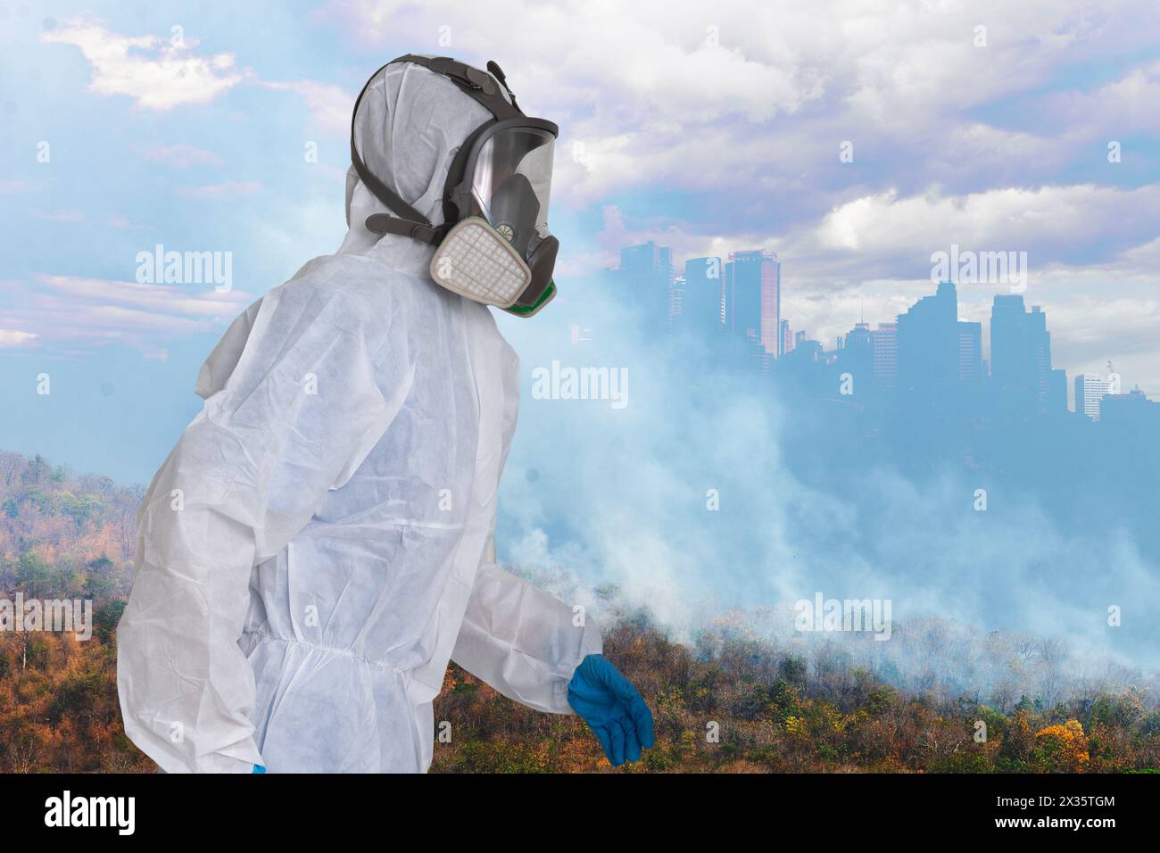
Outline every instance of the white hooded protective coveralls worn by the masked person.
MULTIPOLYGON (((490 117, 391 65, 355 132, 440 224, 451 158, 490 117)), ((166 772, 422 772, 449 658, 568 714, 601 651, 590 620, 494 565, 515 353, 486 306, 432 281, 432 246, 369 232, 372 212, 351 169, 342 246, 230 326, 142 505, 117 686, 166 772)))

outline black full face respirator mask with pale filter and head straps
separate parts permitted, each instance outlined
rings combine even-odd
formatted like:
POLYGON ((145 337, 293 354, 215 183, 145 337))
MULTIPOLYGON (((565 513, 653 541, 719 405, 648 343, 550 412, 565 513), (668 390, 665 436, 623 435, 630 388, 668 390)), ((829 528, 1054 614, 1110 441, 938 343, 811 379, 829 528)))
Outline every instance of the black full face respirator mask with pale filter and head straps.
MULTIPOLYGON (((495 63, 480 71, 448 57, 413 53, 387 65, 394 63, 413 63, 445 75, 493 118, 466 138, 451 161, 443 187, 442 225, 433 225, 371 173, 355 144, 351 118, 350 161, 367 188, 394 214, 369 216, 368 230, 436 246, 430 262, 436 283, 516 317, 531 317, 556 296, 552 268, 560 244, 548 230, 548 201, 559 128, 523 114, 495 63)), ((356 116, 367 88, 383 68, 358 94, 356 116)))

